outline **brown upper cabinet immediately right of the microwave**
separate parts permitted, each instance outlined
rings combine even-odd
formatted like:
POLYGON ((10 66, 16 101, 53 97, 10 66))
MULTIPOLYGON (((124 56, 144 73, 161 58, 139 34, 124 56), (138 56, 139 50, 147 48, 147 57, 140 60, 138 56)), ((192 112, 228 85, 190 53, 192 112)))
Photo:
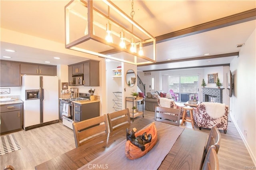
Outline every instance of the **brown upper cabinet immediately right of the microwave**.
POLYGON ((88 60, 84 63, 84 86, 100 86, 100 62, 88 60))

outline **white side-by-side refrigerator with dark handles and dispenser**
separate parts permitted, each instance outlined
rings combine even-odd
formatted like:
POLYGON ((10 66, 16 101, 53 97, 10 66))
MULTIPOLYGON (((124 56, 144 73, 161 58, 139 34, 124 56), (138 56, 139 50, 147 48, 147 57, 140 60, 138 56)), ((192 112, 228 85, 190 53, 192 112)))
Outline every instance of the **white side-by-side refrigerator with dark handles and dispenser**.
POLYGON ((58 121, 58 77, 23 75, 21 99, 25 130, 58 121))

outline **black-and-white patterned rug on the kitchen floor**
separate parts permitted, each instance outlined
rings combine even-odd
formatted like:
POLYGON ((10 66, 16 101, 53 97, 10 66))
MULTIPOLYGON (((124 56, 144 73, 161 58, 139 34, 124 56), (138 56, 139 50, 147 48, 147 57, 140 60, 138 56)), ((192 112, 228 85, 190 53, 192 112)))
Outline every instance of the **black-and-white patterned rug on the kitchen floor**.
POLYGON ((16 140, 14 134, 7 134, 5 136, 1 136, 0 156, 20 149, 20 145, 18 144, 18 141, 16 140))

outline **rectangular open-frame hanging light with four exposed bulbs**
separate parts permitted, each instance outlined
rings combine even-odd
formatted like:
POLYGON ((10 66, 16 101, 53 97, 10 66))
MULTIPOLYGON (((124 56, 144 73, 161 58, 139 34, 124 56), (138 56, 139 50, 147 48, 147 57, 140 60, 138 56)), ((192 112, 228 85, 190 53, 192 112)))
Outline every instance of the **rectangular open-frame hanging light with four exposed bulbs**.
POLYGON ((65 6, 65 47, 134 65, 156 62, 156 38, 110 0, 75 0, 65 6), (128 27, 130 24, 134 30, 128 27), (84 29, 88 29, 88 34, 84 29), (105 38, 111 36, 112 41, 107 42, 105 38), (130 44, 132 38, 134 44, 130 44), (127 48, 120 47, 121 41, 127 48), (135 51, 140 42, 150 44, 148 56, 140 55, 137 49, 130 51, 130 46, 135 51), (110 50, 121 54, 107 55, 110 50))

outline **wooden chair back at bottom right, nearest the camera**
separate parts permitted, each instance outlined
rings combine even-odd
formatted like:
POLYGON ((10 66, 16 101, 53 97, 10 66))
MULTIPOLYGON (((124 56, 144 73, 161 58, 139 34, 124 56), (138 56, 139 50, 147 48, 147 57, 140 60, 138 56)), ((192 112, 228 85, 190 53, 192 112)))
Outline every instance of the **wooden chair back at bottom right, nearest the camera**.
POLYGON ((219 170, 219 160, 214 145, 208 149, 202 170, 219 170))

